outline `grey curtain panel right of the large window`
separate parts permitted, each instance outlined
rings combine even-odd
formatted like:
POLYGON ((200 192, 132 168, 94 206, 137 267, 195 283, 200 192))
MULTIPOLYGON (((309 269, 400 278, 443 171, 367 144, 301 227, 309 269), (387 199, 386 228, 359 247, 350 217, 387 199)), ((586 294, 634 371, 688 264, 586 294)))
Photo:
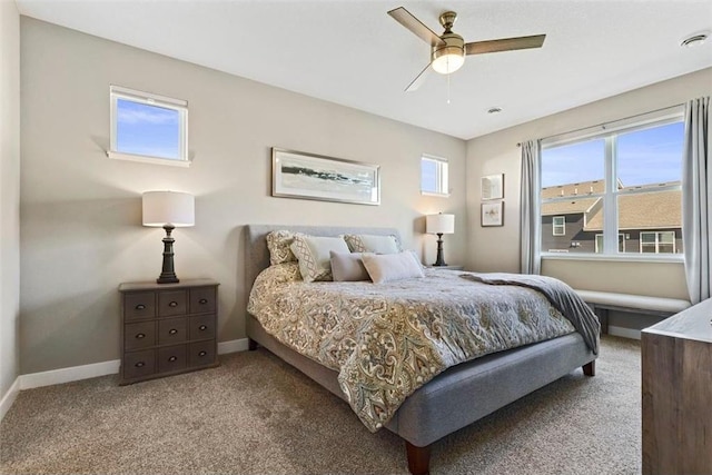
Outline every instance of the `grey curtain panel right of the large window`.
POLYGON ((712 239, 712 162, 710 162, 710 97, 693 99, 685 109, 682 167, 682 245, 692 304, 710 298, 712 239))

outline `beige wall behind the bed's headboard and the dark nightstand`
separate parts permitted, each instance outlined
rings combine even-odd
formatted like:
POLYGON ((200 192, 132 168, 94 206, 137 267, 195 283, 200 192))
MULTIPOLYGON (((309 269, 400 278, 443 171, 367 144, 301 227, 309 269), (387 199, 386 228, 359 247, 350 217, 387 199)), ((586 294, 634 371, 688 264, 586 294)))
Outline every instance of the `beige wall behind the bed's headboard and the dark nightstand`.
POLYGON ((117 286, 160 273, 146 190, 196 195, 176 271, 220 281, 220 342, 245 337, 245 224, 395 226, 434 260, 422 216, 448 211, 461 220, 446 258, 464 261, 464 141, 24 17, 21 32, 22 374, 119 357, 117 286), (188 100, 192 166, 108 159, 109 85, 188 100), (273 146, 379 164, 382 205, 270 197, 273 146), (421 196, 424 152, 449 159, 449 198, 421 196))

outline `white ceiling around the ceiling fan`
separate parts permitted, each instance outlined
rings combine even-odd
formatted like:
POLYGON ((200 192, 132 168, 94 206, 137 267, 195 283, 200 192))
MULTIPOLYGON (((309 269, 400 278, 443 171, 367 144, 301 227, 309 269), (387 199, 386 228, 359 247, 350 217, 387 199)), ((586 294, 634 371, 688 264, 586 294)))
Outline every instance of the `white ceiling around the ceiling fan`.
MULTIPOLYGON (((2 0, 0 0, 2 1, 2 0)), ((469 139, 712 67, 709 0, 16 0, 22 14, 469 139), (542 49, 467 57, 432 72, 429 47, 386 12, 438 34, 457 12, 466 42, 546 33, 542 49), (492 107, 502 112, 490 115, 492 107)))

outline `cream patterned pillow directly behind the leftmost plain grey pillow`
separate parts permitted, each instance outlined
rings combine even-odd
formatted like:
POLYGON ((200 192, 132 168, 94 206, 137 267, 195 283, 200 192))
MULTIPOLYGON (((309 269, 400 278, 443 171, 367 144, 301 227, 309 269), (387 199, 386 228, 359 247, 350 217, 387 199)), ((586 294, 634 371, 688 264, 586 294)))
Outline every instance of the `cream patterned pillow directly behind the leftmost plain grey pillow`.
POLYGON ((299 271, 304 281, 332 280, 329 253, 348 253, 346 241, 339 237, 317 237, 295 234, 289 246, 299 260, 299 271))

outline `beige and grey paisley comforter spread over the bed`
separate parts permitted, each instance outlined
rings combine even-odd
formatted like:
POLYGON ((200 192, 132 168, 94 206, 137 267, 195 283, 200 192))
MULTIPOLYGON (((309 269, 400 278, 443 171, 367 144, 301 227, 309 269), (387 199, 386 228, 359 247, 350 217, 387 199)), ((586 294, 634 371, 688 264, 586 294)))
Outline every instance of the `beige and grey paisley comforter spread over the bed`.
POLYGON ((247 309, 280 343, 338 372, 372 432, 451 366, 574 331, 532 288, 487 285, 454 270, 425 274, 379 285, 307 284, 296 263, 279 264, 257 277, 247 309))

